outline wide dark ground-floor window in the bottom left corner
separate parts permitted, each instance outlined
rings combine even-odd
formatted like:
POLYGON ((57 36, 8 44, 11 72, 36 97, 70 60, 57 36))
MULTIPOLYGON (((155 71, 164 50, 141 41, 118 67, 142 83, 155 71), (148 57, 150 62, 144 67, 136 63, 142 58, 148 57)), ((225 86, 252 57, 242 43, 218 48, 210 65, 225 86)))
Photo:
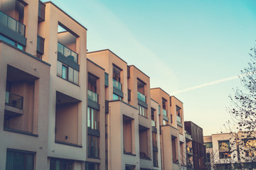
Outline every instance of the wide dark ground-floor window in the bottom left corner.
POLYGON ((26 152, 14 149, 7 149, 6 170, 35 169, 35 152, 26 152))

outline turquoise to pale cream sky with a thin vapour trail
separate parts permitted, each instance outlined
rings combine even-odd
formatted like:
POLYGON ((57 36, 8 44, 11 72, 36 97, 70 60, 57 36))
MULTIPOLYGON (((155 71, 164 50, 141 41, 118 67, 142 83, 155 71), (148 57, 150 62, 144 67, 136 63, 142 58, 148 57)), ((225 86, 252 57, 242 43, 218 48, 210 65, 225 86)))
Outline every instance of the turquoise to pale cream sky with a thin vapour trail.
POLYGON ((204 135, 225 132, 238 75, 256 40, 254 0, 53 0, 87 28, 87 50, 110 49, 183 102, 204 135))

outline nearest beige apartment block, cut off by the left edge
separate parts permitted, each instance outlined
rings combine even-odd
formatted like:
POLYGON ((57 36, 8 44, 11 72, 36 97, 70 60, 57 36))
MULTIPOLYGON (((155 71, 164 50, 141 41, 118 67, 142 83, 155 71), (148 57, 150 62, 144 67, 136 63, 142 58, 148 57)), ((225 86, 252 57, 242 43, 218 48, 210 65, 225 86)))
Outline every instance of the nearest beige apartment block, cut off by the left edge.
POLYGON ((42 6, 0 1, 0 169, 48 169, 51 65, 36 57, 42 6))

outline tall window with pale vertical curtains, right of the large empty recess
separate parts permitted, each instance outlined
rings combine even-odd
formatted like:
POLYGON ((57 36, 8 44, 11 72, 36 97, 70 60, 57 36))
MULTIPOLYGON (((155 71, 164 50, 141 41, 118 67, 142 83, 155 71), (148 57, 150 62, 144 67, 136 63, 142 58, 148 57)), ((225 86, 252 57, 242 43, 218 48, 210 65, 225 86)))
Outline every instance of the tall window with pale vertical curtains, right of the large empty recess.
POLYGON ((99 114, 98 111, 87 107, 87 127, 92 129, 92 130, 100 130, 99 127, 99 114))

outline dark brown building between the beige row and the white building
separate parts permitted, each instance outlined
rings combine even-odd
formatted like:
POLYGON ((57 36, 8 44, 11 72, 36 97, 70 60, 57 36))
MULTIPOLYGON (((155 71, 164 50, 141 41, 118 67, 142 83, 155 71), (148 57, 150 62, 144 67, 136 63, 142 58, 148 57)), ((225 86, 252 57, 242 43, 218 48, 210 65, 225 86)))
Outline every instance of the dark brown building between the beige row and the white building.
POLYGON ((187 169, 206 169, 206 147, 203 145, 203 128, 185 121, 187 169))

